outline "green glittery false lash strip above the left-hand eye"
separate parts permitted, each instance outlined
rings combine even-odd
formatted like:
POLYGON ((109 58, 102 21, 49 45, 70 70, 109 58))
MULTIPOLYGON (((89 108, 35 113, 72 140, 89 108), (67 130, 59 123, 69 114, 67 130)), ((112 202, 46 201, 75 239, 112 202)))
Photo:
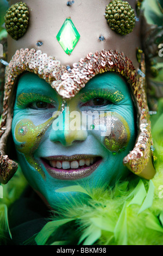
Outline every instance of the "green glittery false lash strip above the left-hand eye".
POLYGON ((54 103, 53 100, 49 99, 49 97, 35 94, 35 93, 22 93, 17 97, 16 106, 19 108, 23 108, 28 106, 32 102, 42 101, 47 103, 54 103))

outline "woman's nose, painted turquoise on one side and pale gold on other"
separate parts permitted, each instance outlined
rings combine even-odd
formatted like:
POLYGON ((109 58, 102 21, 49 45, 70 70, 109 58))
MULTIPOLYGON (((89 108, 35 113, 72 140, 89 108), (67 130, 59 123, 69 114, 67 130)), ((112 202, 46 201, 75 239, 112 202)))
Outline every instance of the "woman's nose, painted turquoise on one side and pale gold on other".
POLYGON ((87 131, 80 125, 80 118, 76 118, 74 121, 72 118, 59 116, 54 122, 49 134, 49 139, 52 142, 70 146, 75 141, 85 141, 87 138, 87 131))

